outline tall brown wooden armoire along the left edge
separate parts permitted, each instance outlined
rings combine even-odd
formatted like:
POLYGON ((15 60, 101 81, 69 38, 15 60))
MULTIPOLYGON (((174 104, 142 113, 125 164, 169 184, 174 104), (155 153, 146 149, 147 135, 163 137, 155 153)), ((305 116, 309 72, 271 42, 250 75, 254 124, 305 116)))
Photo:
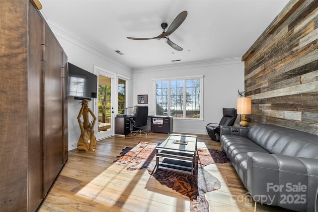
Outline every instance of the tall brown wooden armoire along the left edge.
POLYGON ((0 211, 34 212, 68 158, 67 56, 30 0, 0 3, 0 211))

